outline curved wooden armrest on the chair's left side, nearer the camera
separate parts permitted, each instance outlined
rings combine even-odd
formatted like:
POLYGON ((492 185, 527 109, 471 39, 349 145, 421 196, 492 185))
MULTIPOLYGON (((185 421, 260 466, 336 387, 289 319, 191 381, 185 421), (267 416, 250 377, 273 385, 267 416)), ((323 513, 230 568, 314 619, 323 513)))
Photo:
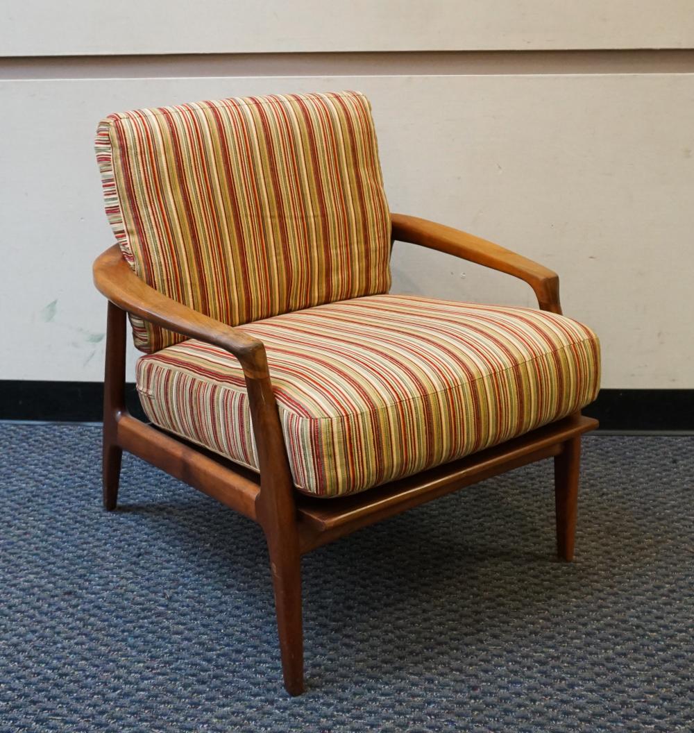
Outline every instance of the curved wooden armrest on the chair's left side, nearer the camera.
POLYGON ((94 284, 120 309, 233 354, 247 377, 268 376, 262 342, 149 287, 125 262, 117 245, 108 248, 95 260, 94 284))

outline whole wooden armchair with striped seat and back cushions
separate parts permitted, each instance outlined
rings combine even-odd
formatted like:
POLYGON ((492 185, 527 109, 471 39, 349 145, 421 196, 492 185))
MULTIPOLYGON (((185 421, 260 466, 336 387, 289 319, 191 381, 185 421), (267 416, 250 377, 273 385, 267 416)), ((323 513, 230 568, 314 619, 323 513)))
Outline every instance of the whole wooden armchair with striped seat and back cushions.
POLYGON ((572 559, 597 338, 561 315, 551 270, 389 212, 363 95, 114 114, 96 147, 117 240, 94 267, 109 301, 104 505, 126 450, 260 524, 289 693, 303 690, 309 550, 554 457, 572 559), (389 295, 394 240, 523 279, 540 309, 389 295), (126 313, 151 424, 125 409, 126 313))

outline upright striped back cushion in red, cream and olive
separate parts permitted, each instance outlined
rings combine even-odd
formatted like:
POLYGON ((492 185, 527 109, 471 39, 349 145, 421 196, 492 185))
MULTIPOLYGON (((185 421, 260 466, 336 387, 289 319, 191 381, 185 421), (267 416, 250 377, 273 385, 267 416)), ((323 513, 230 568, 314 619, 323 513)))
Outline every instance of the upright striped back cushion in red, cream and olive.
MULTIPOLYGON (((358 92, 141 109, 100 122, 106 215, 160 292, 229 325, 390 287, 390 216, 358 92)), ((152 353, 182 337, 133 318, 152 353)))

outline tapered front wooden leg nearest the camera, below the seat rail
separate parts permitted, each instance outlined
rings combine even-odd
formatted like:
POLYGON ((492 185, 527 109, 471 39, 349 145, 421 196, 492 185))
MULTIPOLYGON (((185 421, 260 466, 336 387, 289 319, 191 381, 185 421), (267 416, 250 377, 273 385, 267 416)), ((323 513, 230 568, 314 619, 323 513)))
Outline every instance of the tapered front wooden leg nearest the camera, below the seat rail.
POLYGON ((290 695, 303 693, 303 630, 301 622, 301 556, 283 542, 268 538, 270 570, 275 589, 277 630, 284 687, 290 695))

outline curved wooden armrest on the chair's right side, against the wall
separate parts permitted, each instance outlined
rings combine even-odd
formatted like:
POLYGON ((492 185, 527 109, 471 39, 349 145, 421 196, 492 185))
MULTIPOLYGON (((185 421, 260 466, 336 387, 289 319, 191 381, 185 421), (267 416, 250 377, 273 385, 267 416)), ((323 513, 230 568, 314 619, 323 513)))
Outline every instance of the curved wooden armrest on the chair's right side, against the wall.
POLYGON ((499 270, 527 282, 535 291, 543 311, 561 313, 559 303, 559 276, 548 268, 503 248, 498 244, 475 237, 451 226, 405 214, 391 214, 393 239, 410 242, 440 252, 454 254, 478 265, 499 270))

